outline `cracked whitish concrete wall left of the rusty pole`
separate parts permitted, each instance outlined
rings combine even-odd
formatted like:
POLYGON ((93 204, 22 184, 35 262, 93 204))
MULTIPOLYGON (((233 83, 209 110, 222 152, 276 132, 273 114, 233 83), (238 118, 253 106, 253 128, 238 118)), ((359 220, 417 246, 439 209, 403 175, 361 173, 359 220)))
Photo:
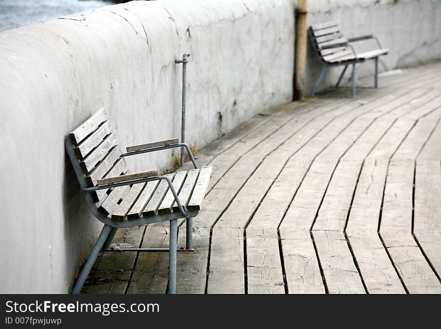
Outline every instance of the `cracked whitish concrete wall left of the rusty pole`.
MULTIPOLYGON (((105 106, 122 146, 179 136, 197 147, 292 95, 291 0, 137 1, 0 34, 0 292, 68 292, 100 226, 65 135, 105 106)), ((170 153, 129 159, 170 167, 170 153)))

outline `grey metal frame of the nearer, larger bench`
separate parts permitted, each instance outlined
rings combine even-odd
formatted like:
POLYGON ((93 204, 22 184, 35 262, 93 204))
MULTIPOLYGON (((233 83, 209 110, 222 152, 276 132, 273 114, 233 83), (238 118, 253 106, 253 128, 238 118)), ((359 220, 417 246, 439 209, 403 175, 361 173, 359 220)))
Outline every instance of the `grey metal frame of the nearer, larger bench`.
MULTIPOLYGON (((92 269, 93 264, 95 263, 95 260, 100 253, 100 251, 141 251, 141 252, 158 252, 158 251, 166 251, 169 252, 169 274, 168 274, 168 293, 176 293, 176 251, 193 251, 193 217, 195 217, 198 214, 197 211, 188 211, 184 209, 182 206, 177 193, 173 187, 173 184, 169 177, 161 175, 161 176, 154 176, 154 177, 148 177, 148 178, 141 178, 136 180, 130 180, 130 181, 124 181, 124 182, 118 182, 114 184, 106 184, 106 185, 100 185, 100 186, 94 186, 94 187, 88 187, 88 184, 86 182, 84 173, 81 170, 80 163, 78 162, 78 158, 74 151, 74 145, 72 141, 70 140, 69 136, 65 139, 65 146, 67 153, 69 155, 69 158, 71 159, 73 168, 75 170, 75 174, 78 178, 78 181, 80 183, 80 186, 82 190, 85 192, 85 198, 86 202, 93 213, 93 215, 104 223, 104 227, 101 230, 101 233, 98 237, 98 240, 95 242, 95 245, 86 261, 86 263, 83 266, 83 269, 81 270, 80 275, 77 278, 77 281, 75 282, 75 285, 72 289, 72 293, 80 293, 81 288, 84 285, 84 282, 87 279, 87 276, 89 275, 90 270, 92 269), (149 217, 140 217, 137 219, 130 219, 130 220, 124 220, 124 221, 115 221, 111 218, 104 216, 98 211, 97 206, 95 205, 95 202, 91 196, 90 193, 92 191, 100 190, 100 189, 108 189, 113 188, 117 186, 123 186, 123 185, 132 185, 137 183, 144 183, 149 181, 155 181, 155 180, 163 180, 165 179, 168 183, 168 186, 173 193, 174 199, 176 201, 176 204, 179 207, 179 212, 171 212, 169 214, 156 214, 154 216, 149 217), (185 249, 177 249, 177 219, 179 218, 186 218, 186 241, 185 241, 185 249), (133 226, 140 226, 140 225, 146 225, 161 221, 170 221, 170 242, 169 242, 169 248, 118 248, 118 249, 110 249, 109 246, 116 234, 116 231, 118 228, 121 227, 133 227, 133 226)), ((131 155, 138 155, 143 153, 150 153, 155 151, 161 151, 171 148, 180 148, 184 147, 188 155, 190 156, 190 160, 194 166, 195 169, 197 169, 196 161, 194 160, 193 154, 191 153, 190 147, 186 143, 177 143, 173 145, 165 145, 160 147, 154 147, 150 149, 143 149, 143 150, 137 150, 133 152, 127 152, 120 155, 120 157, 126 157, 131 155)))

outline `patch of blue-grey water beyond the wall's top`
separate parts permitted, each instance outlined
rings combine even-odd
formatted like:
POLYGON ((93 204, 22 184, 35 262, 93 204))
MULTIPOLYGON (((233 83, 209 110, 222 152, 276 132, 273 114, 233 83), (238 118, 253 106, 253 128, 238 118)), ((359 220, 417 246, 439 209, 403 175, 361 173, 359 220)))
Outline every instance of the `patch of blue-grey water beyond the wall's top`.
POLYGON ((0 31, 111 4, 100 0, 0 0, 0 31))

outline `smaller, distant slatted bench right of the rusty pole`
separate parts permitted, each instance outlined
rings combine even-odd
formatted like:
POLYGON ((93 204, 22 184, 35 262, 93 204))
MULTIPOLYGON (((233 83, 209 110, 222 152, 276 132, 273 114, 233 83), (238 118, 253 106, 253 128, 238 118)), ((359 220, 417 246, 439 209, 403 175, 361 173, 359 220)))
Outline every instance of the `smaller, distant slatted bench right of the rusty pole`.
POLYGON ((377 38, 372 35, 366 35, 346 39, 341 33, 340 22, 338 21, 315 24, 309 28, 308 34, 313 48, 322 63, 322 71, 314 86, 312 96, 317 92, 328 67, 344 66, 336 84, 336 87, 338 87, 348 65, 352 65, 352 97, 354 97, 356 81, 355 66, 357 63, 363 63, 371 59, 375 59, 375 88, 378 87, 378 57, 386 55, 388 50, 381 48, 377 38), (357 54, 351 43, 369 39, 374 39, 377 42, 378 49, 357 54))

